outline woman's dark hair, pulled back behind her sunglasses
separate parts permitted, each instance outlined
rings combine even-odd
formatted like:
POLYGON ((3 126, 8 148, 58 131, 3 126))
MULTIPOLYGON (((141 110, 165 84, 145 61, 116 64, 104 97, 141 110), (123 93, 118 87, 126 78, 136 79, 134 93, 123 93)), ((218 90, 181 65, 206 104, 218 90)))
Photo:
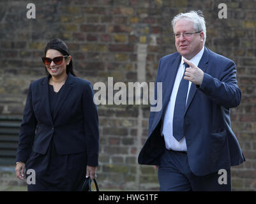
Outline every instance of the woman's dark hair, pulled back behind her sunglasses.
MULTIPOLYGON (((59 38, 54 38, 47 43, 47 45, 45 47, 45 55, 46 55, 47 50, 49 50, 49 49, 58 50, 63 55, 70 55, 70 52, 68 51, 68 46, 66 46, 66 43, 64 43, 64 41, 59 38)), ((45 71, 46 71, 47 75, 49 76, 50 74, 47 71, 46 67, 45 67, 45 71)), ((70 63, 66 66, 66 73, 67 74, 72 73, 72 75, 77 77, 77 75, 75 75, 74 70, 73 70, 72 59, 71 59, 70 63)))

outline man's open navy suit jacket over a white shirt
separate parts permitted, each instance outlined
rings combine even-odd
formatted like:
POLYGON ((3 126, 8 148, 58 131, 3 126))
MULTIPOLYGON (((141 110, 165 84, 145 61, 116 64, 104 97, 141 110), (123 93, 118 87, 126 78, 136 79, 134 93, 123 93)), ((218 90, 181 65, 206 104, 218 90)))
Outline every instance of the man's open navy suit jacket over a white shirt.
MULTIPOLYGON (((178 52, 160 59, 156 83, 162 82, 162 110, 150 113, 149 137, 140 151, 139 164, 160 164, 165 150, 161 124, 180 62, 178 52)), ((207 175, 245 161, 230 126, 230 108, 239 105, 241 91, 236 65, 230 59, 205 47, 198 67, 204 71, 204 78, 200 87, 191 85, 184 113, 184 137, 192 172, 207 175)))

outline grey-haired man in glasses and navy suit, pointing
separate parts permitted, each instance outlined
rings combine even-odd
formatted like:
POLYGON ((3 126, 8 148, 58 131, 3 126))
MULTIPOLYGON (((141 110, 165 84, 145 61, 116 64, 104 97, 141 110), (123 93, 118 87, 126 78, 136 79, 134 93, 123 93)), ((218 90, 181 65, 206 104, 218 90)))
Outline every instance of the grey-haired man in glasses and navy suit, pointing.
POLYGON ((179 13, 172 26, 177 52, 160 59, 163 106, 150 113, 139 164, 158 169, 160 191, 230 191, 230 166, 245 161, 230 128, 241 101, 236 66, 204 47, 200 11, 179 13))

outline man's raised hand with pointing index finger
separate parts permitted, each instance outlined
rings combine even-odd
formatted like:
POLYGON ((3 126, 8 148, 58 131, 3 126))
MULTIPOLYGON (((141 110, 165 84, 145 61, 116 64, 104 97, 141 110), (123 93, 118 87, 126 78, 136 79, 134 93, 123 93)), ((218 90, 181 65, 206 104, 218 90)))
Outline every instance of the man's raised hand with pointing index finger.
POLYGON ((184 62, 190 66, 190 68, 186 68, 184 79, 192 82, 193 84, 201 85, 202 79, 204 78, 204 71, 202 71, 202 69, 198 68, 195 66, 195 64, 193 64, 193 62, 190 62, 187 59, 184 59, 184 62))

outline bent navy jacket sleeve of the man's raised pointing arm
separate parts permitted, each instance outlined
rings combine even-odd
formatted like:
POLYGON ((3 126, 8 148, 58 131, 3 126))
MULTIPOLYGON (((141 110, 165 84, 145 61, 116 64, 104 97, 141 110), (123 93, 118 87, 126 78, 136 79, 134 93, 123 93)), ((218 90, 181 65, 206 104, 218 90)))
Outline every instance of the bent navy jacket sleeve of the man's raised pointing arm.
POLYGON ((241 90, 237 86, 236 65, 232 61, 225 64, 220 80, 204 73, 199 87, 212 101, 225 108, 234 108, 241 102, 241 90))

